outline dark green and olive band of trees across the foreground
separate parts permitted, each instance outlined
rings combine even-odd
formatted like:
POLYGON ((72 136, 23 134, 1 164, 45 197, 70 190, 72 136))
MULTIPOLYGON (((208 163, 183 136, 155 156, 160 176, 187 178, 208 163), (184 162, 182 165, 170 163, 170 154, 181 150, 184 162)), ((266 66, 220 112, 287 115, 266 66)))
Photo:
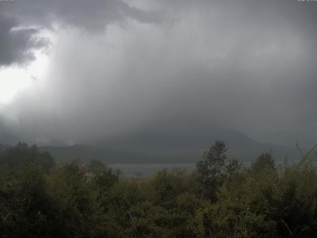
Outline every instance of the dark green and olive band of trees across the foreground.
POLYGON ((314 155, 243 168, 215 141, 197 170, 123 178, 97 160, 55 165, 19 143, 0 152, 0 237, 317 237, 314 155))

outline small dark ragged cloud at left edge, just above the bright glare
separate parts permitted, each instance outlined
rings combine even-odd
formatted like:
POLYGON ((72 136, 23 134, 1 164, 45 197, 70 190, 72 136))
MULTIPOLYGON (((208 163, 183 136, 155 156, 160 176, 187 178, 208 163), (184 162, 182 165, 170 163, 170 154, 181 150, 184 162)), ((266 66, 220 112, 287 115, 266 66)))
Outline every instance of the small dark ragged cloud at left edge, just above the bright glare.
POLYGON ((48 45, 45 38, 36 37, 37 29, 19 29, 17 26, 14 17, 0 14, 0 66, 34 60, 33 50, 48 45))

